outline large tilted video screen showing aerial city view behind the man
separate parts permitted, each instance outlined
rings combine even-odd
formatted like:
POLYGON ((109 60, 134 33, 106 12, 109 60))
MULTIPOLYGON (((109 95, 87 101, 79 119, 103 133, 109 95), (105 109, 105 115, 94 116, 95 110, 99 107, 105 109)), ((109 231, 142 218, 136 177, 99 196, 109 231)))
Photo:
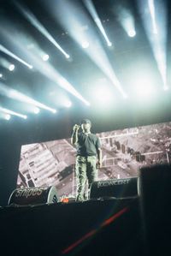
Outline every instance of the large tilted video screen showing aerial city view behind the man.
MULTIPOLYGON (((98 180, 139 176, 142 165, 171 159, 171 122, 97 134, 103 166, 98 180)), ((59 197, 75 197, 76 149, 70 138, 21 146, 17 188, 55 186, 59 197)))

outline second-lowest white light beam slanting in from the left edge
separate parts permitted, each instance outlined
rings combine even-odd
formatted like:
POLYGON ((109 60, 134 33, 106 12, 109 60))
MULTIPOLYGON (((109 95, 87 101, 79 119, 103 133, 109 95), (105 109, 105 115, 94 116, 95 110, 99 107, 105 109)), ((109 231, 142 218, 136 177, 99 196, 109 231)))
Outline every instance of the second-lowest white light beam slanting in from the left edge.
POLYGON ((55 109, 52 109, 52 108, 46 106, 45 104, 39 103, 38 101, 36 101, 30 97, 27 97, 25 94, 9 88, 8 86, 4 85, 1 82, 0 82, 0 93, 8 98, 14 98, 18 101, 25 102, 27 104, 32 104, 32 105, 42 108, 44 110, 49 110, 52 113, 56 113, 55 109))

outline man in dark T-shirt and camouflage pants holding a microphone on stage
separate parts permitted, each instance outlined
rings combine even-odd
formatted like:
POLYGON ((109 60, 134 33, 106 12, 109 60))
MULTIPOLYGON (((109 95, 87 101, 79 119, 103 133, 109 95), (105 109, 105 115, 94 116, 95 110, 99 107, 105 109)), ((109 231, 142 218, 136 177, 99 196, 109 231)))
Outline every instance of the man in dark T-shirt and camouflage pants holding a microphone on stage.
POLYGON ((97 167, 102 166, 102 150, 100 140, 95 134, 91 134, 91 121, 83 119, 80 125, 75 124, 71 143, 77 148, 75 163, 77 197, 76 200, 85 200, 85 184, 88 180, 88 190, 91 183, 97 180, 97 167))

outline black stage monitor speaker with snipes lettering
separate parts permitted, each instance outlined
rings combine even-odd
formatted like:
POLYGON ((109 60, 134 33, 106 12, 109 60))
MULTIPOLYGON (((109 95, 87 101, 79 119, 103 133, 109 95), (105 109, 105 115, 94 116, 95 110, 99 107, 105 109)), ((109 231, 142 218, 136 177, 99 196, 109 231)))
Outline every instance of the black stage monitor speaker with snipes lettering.
POLYGON ((8 205, 39 205, 58 201, 56 187, 16 188, 9 197, 8 205))

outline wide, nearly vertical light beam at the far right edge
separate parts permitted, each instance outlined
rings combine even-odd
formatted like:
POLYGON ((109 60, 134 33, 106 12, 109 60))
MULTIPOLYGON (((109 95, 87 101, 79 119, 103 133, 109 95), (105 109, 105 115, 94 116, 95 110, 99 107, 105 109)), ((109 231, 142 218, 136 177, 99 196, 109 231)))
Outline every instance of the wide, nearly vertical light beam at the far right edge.
POLYGON ((138 7, 141 13, 142 21, 144 24, 144 30, 147 38, 150 42, 150 47, 153 51, 153 55, 156 59, 157 68, 161 74, 163 89, 167 86, 167 57, 166 57, 166 45, 167 45, 167 12, 166 5, 163 1, 154 2, 150 0, 140 0, 138 7), (149 12, 143 10, 149 9, 149 12), (154 20, 155 18, 155 20, 154 20), (157 33, 154 32, 153 23, 157 24, 157 33), (152 33, 151 33, 152 32, 152 33))

